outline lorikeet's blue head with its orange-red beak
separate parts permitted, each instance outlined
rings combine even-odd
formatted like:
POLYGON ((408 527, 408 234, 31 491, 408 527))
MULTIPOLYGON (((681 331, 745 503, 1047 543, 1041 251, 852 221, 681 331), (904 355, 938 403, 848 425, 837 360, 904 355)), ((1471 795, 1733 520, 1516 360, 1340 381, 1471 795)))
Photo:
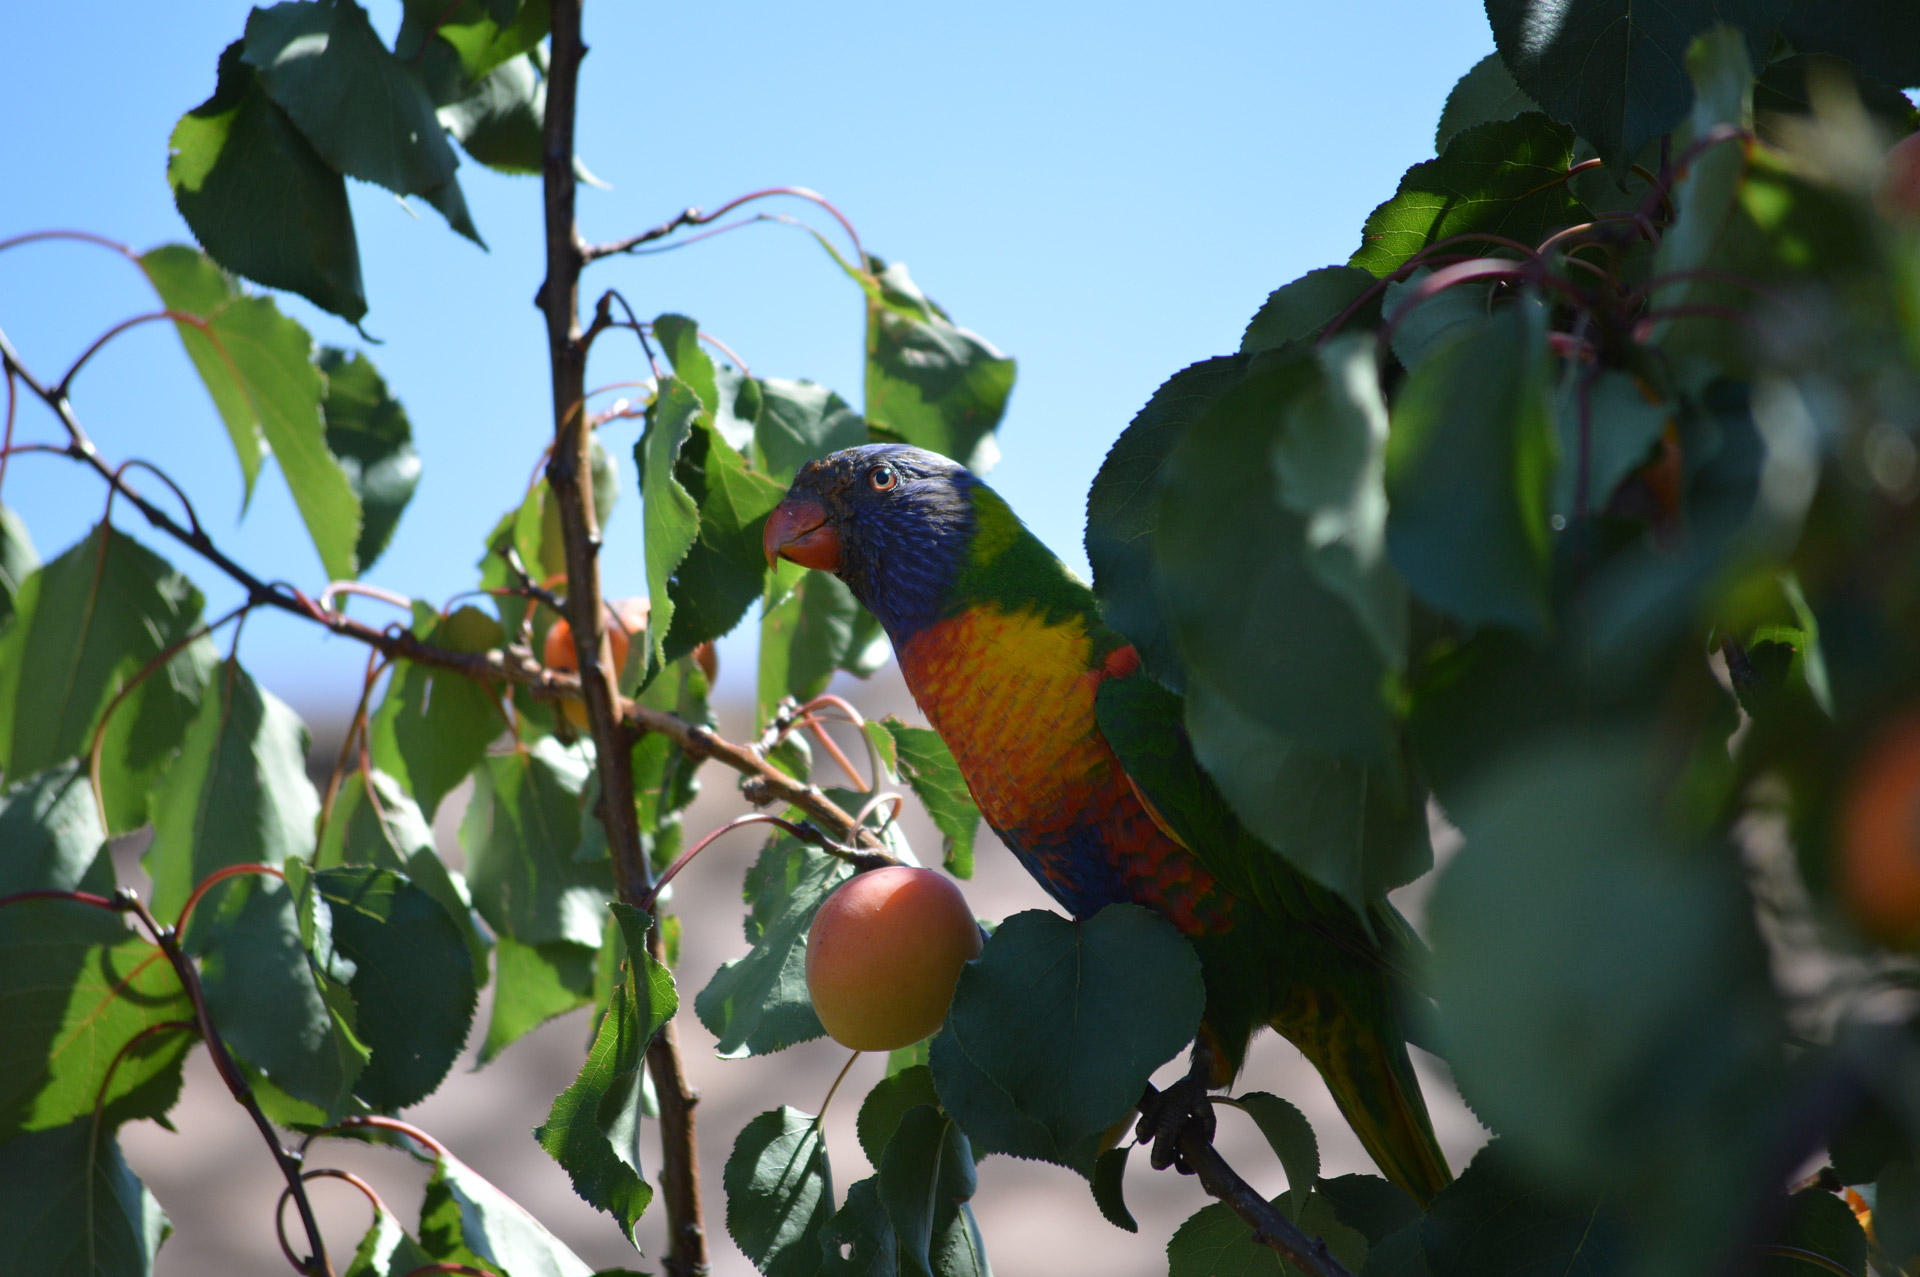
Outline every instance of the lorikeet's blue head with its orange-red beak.
POLYGON ((766 559, 833 572, 899 645, 948 611, 977 488, 966 467, 922 447, 845 447, 793 476, 766 520, 766 559))

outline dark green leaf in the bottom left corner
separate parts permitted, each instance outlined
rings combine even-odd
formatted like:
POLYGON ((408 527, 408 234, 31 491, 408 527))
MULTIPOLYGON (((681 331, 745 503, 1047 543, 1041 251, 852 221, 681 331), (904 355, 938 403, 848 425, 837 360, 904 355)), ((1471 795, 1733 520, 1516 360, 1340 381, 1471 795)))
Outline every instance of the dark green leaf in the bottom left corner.
POLYGON ((81 1118, 0 1144, 0 1231, 35 1277, 148 1277, 173 1231, 111 1131, 81 1118))

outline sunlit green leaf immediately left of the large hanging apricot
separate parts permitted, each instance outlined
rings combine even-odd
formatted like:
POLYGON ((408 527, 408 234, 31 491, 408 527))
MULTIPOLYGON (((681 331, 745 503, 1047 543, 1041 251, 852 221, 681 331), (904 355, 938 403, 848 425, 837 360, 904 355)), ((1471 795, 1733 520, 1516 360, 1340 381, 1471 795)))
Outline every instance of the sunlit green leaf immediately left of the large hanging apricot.
POLYGON ((760 1056, 826 1033, 806 993, 806 931, 820 903, 852 870, 839 856, 780 835, 747 872, 753 904, 745 958, 724 962, 693 1010, 722 1056, 760 1056))

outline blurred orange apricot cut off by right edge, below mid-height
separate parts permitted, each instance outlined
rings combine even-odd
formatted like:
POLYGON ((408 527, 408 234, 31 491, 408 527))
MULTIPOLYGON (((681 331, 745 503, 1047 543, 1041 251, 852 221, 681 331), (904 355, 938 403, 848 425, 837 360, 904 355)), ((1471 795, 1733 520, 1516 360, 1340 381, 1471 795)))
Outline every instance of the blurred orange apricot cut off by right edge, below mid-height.
POLYGON ((1920 712, 1866 753, 1839 812, 1847 908, 1874 939, 1920 945, 1920 712))

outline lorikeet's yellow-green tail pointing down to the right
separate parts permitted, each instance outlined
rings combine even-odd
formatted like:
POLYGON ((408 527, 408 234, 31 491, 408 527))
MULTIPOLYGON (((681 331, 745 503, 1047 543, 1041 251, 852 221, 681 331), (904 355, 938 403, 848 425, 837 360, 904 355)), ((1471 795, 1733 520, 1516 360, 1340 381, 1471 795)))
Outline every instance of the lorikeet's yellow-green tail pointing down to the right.
POLYGON ((1407 1047, 1350 1008, 1298 991, 1273 1027, 1300 1047, 1380 1173, 1425 1206, 1453 1181, 1407 1047))

